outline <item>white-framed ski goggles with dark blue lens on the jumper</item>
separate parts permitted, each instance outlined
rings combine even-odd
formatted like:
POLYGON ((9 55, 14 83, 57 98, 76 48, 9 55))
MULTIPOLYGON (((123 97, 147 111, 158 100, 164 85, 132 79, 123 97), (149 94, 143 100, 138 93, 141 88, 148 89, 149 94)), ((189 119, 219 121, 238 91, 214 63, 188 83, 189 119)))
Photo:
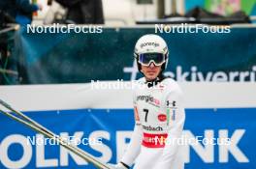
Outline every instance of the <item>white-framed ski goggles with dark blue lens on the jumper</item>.
POLYGON ((138 62, 143 66, 149 66, 153 62, 158 67, 165 63, 165 55, 162 53, 142 53, 139 55, 138 62))

